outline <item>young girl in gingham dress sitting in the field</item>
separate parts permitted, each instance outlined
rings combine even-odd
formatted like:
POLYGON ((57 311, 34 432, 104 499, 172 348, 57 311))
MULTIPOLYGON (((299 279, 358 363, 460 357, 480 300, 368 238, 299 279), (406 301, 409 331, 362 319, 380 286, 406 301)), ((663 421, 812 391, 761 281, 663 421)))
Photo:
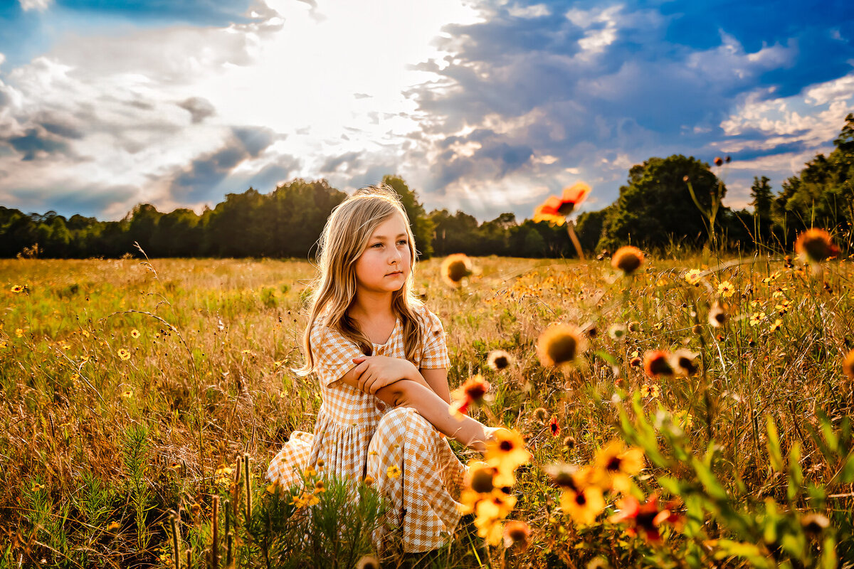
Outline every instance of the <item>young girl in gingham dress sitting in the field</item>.
POLYGON ((445 334, 412 291, 415 244, 395 191, 360 189, 337 206, 318 259, 297 373, 317 376, 323 404, 313 435, 295 431, 266 478, 289 487, 321 460, 337 477, 370 476, 405 552, 442 547, 465 466, 436 429, 479 451, 495 429, 448 409, 445 334))

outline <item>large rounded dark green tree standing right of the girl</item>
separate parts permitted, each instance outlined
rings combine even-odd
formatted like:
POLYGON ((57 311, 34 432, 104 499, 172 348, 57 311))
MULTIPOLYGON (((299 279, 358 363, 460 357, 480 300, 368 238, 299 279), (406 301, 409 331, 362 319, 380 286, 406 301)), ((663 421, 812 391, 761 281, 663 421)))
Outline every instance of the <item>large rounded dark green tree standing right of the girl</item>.
MULTIPOLYGON (((700 206, 708 211, 719 181, 705 162, 674 154, 632 166, 596 248, 614 249, 629 241, 647 247, 672 240, 705 241, 707 220, 693 203, 685 177, 693 184, 700 206)), ((722 187, 721 197, 725 194, 722 187)))

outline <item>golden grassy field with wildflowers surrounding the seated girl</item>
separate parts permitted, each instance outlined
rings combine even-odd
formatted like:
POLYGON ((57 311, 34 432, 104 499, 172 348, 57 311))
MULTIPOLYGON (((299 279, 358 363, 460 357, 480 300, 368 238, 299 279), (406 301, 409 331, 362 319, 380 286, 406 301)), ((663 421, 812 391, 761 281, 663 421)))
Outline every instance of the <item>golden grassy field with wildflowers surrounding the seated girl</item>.
MULTIPOLYGON (((419 264, 418 293, 444 322, 452 390, 483 374, 491 389, 472 413, 521 433, 532 457, 515 508, 487 520, 476 506, 449 547, 403 561, 854 566, 850 259, 819 272, 783 258, 647 258, 631 277, 607 260, 473 261, 459 289, 442 282, 442 259, 419 264), (554 322, 585 331, 572 366, 537 357, 554 322), (494 350, 513 363, 490 369, 494 350), (647 373, 651 351, 678 350, 693 365, 647 373), (641 456, 623 496, 582 476, 609 449, 641 456), (582 486, 600 508, 571 507, 582 486), (640 513, 627 518, 629 496, 640 513), (505 515, 530 535, 485 545, 477 530, 500 536, 505 515)), ((319 409, 313 380, 290 371, 312 276, 306 262, 268 259, 0 260, 0 567, 213 566, 214 541, 219 566, 226 554, 342 567, 371 554, 370 488, 348 509, 330 481, 298 508, 261 478, 319 409), (249 486, 245 467, 234 484, 244 453, 249 486)))

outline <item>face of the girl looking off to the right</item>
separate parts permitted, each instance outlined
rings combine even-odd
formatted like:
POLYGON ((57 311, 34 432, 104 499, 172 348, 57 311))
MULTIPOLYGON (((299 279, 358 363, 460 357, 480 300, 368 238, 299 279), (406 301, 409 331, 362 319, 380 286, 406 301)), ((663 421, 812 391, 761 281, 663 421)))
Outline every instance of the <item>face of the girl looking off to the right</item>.
POLYGON ((371 293, 393 293, 407 282, 411 271, 407 226, 395 214, 374 229, 365 251, 356 260, 356 286, 371 293))

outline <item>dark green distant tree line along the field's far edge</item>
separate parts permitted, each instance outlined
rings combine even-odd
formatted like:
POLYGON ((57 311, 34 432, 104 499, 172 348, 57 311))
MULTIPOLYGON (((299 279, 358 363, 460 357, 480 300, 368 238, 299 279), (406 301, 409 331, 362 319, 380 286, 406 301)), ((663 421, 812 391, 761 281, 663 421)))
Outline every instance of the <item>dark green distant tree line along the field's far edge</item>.
MULTIPOLYGON (((582 248, 599 253, 632 243, 646 248, 702 246, 709 240, 701 206, 723 196, 721 173, 693 157, 650 158, 629 170, 617 200, 598 212, 584 212, 576 222, 582 248), (717 173, 716 173, 717 172, 717 173)), ((723 175, 722 177, 725 177, 723 175)), ((422 258, 450 253, 512 257, 573 257, 575 249, 564 227, 502 213, 483 223, 465 212, 425 212, 417 192, 396 176, 383 177, 407 209, 422 258)), ((715 224, 717 242, 729 249, 750 250, 757 243, 787 248, 808 227, 831 230, 844 247, 851 246, 854 221, 854 114, 834 141, 828 156, 818 154, 798 175, 774 192, 767 177, 754 177, 752 210, 721 207, 715 224)), ((23 213, 0 206, 0 257, 118 258, 139 256, 138 242, 151 258, 275 257, 313 255, 325 220, 347 195, 326 180, 296 179, 269 194, 249 188, 228 194, 201 215, 189 209, 158 212, 141 204, 120 221, 98 221, 56 212, 23 213)))

